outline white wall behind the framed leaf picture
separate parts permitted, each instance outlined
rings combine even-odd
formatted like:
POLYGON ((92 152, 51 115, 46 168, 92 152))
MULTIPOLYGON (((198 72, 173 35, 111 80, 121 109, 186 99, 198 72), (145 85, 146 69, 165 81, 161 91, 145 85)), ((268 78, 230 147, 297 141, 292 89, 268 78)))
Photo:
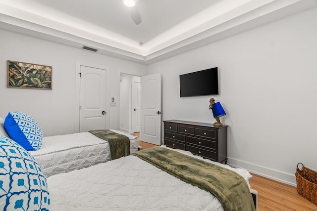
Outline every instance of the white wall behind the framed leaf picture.
MULTIPOLYGON (((110 97, 119 98, 120 72, 140 76, 146 73, 146 66, 142 64, 9 31, 0 30, 0 38, 0 117, 5 118, 10 111, 28 113, 42 127, 45 136, 76 131, 76 64, 96 64, 110 71, 107 104, 110 97), (7 60, 53 66, 53 90, 7 88, 7 60)), ((118 113, 117 106, 109 107, 107 128, 119 129, 118 113)))

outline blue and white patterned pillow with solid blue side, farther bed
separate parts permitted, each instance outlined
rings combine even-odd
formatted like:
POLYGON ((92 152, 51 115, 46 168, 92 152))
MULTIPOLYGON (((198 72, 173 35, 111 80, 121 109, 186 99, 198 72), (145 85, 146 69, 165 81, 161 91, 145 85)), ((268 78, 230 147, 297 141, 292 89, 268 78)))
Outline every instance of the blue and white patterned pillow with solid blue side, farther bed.
POLYGON ((42 129, 28 114, 9 112, 4 120, 4 129, 12 140, 28 151, 38 150, 42 146, 42 129))

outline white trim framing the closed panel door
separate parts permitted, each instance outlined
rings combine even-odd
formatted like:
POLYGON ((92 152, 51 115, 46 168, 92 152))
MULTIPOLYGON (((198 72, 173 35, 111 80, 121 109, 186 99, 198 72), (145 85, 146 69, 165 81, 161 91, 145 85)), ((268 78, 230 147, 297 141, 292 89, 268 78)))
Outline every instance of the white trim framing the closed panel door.
POLYGON ((79 113, 79 106, 80 106, 80 66, 87 66, 92 68, 98 68, 106 70, 106 129, 110 126, 110 68, 106 67, 102 64, 96 64, 89 61, 76 61, 76 68, 75 68, 75 132, 79 132, 79 122, 80 122, 80 113, 79 113))

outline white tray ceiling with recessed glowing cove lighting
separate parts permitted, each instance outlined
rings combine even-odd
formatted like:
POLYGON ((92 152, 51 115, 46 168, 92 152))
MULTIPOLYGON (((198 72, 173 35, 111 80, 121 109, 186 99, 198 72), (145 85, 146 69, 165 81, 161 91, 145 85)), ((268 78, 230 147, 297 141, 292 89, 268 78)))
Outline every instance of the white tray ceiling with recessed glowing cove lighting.
POLYGON ((316 0, 0 0, 0 28, 150 64, 317 5, 316 0), (143 44, 140 44, 142 42, 143 44))

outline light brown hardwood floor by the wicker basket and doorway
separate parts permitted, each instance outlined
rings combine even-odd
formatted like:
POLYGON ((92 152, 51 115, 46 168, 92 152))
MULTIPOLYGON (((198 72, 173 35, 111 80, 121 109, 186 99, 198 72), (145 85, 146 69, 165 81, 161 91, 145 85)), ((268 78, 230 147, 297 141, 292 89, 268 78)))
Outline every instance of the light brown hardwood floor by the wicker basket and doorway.
MULTIPOLYGON (((138 136, 138 144, 143 149, 157 146, 141 141, 139 133, 133 135, 138 136)), ((301 197, 294 186, 253 173, 249 182, 259 192, 258 211, 317 211, 317 206, 301 197)))

